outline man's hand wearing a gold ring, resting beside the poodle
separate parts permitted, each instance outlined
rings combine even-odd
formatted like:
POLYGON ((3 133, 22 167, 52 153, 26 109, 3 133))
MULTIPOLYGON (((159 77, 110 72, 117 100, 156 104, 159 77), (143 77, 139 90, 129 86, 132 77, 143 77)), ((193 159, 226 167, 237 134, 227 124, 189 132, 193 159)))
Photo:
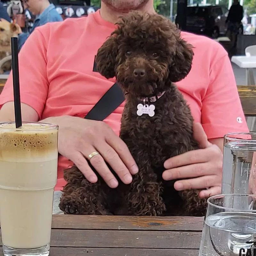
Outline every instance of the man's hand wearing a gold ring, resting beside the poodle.
POLYGON ((138 172, 124 141, 104 122, 73 116, 49 117, 42 122, 59 125, 59 153, 74 162, 90 182, 97 182, 98 179, 85 158, 90 160, 110 188, 116 188, 118 182, 105 161, 125 184, 131 183, 131 174, 138 172), (89 159, 89 155, 94 151, 98 151, 100 155, 89 159))

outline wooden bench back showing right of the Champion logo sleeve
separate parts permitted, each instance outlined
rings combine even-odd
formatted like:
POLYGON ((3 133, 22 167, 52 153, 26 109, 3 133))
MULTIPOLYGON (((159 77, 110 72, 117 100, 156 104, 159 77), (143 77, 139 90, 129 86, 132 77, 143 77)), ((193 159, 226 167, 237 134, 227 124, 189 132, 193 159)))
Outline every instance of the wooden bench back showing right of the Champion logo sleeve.
POLYGON ((245 116, 256 116, 256 85, 237 85, 245 116))

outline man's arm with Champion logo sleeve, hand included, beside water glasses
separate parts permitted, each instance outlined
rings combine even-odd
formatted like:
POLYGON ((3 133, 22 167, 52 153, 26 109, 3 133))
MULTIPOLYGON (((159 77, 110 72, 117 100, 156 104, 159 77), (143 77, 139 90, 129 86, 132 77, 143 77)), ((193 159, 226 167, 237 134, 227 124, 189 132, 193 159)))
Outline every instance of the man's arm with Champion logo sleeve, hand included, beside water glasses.
POLYGON ((174 156, 164 163, 164 180, 179 180, 177 190, 202 189, 199 196, 221 192, 223 137, 229 132, 248 132, 236 80, 227 52, 213 42, 209 86, 202 97, 202 125, 194 124, 200 149, 174 156), (208 188, 208 189, 205 189, 208 188))

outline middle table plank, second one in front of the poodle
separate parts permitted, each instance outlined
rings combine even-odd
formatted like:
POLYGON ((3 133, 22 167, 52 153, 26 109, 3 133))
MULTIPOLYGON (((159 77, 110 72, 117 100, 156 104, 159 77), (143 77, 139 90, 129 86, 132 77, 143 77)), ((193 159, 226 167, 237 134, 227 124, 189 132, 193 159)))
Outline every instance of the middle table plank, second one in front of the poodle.
POLYGON ((201 236, 200 232, 185 231, 53 229, 51 245, 57 247, 199 249, 201 236))

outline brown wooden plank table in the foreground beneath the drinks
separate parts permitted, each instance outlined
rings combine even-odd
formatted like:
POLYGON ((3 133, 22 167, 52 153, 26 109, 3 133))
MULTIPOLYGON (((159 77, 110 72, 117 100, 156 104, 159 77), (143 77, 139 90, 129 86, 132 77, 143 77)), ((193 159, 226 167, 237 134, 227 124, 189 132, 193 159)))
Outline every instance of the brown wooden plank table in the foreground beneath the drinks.
POLYGON ((203 220, 53 215, 50 256, 198 256, 203 220))

